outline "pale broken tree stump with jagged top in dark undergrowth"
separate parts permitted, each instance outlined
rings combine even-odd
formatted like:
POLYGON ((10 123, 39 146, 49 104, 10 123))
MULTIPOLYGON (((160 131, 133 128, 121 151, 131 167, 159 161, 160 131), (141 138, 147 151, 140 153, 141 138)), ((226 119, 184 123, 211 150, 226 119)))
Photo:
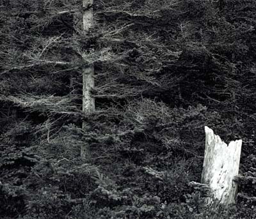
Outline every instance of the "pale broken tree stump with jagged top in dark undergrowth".
POLYGON ((205 126, 205 155, 201 183, 209 185, 211 197, 206 204, 216 203, 227 207, 236 202, 237 184, 242 140, 225 144, 211 128, 205 126))

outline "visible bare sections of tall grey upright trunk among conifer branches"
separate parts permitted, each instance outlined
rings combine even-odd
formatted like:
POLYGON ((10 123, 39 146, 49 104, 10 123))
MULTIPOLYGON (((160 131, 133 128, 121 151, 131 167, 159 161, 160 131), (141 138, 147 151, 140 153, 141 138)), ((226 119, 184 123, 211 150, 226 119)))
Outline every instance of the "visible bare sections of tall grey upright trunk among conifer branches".
MULTIPOLYGON (((83 31, 86 33, 93 26, 93 0, 83 0, 83 31)), ((83 68, 83 112, 90 114, 95 111, 95 100, 91 90, 94 87, 93 64, 83 68)), ((83 128, 85 124, 83 122, 83 128)), ((89 156, 88 146, 81 148, 81 157, 86 159, 89 156)))

